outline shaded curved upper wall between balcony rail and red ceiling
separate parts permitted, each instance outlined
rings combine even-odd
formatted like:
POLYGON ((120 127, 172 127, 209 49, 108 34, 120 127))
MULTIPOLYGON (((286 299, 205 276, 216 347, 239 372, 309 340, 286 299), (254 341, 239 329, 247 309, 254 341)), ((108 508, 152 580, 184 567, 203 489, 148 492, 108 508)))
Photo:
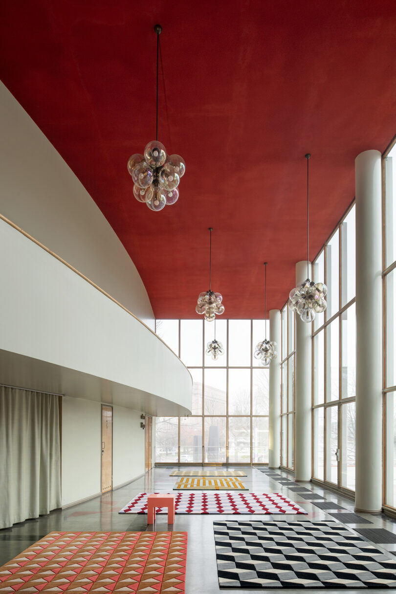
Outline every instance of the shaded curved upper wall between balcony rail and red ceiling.
MULTIPOLYGON (((0 213, 154 330, 153 309, 131 258, 72 170, 2 83, 0 129, 0 213)), ((126 161, 118 175, 128 176, 126 161)))

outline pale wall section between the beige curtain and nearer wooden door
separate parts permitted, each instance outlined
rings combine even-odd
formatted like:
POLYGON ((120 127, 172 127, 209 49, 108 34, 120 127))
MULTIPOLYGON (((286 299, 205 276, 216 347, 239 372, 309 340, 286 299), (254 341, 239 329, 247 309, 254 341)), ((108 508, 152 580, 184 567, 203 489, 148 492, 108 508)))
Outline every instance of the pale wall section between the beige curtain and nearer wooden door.
POLYGON ((62 399, 62 505, 100 493, 101 405, 62 399))

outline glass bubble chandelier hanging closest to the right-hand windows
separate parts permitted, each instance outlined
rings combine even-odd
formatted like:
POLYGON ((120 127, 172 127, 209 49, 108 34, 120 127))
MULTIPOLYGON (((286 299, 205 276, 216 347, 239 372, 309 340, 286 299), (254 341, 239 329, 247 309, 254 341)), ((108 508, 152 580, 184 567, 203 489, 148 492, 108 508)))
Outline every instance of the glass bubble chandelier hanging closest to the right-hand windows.
POLYGON ((327 308, 325 296, 327 286, 324 283, 314 283, 309 279, 309 157, 306 158, 306 226, 307 226, 307 279, 290 291, 289 309, 296 311, 303 322, 312 322, 316 314, 321 314, 327 308))

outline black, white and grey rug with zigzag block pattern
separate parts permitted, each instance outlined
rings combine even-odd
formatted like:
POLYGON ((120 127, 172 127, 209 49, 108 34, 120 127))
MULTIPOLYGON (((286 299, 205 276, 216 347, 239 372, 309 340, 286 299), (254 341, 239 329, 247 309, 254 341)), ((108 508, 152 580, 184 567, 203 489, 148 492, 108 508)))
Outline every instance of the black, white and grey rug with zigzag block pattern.
POLYGON ((214 522, 223 588, 396 587, 396 560, 331 521, 214 522))

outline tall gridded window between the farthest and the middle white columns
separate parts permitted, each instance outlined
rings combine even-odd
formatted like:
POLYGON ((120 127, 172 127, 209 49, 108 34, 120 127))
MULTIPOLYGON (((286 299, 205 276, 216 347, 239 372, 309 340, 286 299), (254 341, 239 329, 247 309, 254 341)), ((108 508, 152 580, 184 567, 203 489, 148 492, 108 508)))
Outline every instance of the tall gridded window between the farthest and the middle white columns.
POLYGON ((296 315, 281 311, 281 466, 294 469, 294 352, 296 315))

